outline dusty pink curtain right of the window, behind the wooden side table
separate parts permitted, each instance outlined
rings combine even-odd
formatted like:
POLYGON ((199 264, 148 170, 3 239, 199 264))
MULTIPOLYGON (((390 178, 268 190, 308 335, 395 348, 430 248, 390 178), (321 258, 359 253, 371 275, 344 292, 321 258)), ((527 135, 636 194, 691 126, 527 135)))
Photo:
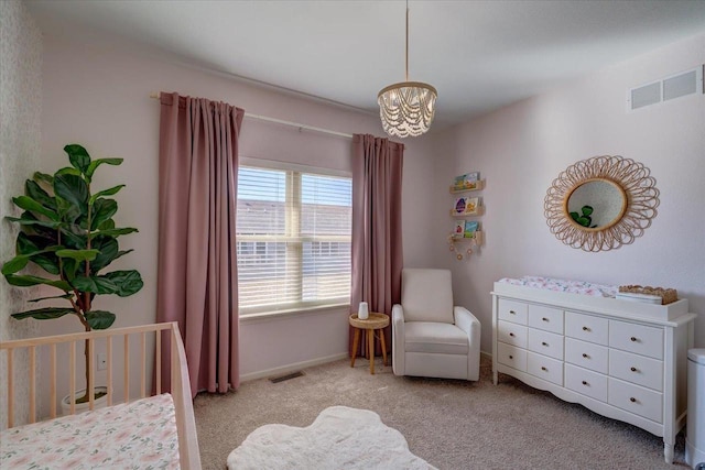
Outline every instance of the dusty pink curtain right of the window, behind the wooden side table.
MULTIPOLYGON (((404 145, 373 135, 352 136, 352 291, 350 308, 360 300, 370 311, 391 315, 401 302, 401 183, 404 145)), ((350 328, 350 350, 354 329, 350 328)), ((391 346, 391 327, 384 329, 391 346)), ((357 354, 368 357, 361 335, 357 354)), ((376 354, 381 353, 379 345, 376 354)))

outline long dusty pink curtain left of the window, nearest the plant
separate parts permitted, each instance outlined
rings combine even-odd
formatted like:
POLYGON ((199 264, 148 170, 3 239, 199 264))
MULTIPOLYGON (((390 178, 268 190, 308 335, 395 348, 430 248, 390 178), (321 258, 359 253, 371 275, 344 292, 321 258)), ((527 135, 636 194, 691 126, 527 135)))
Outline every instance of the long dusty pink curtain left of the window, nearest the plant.
MULTIPOLYGON (((178 323, 193 396, 239 386, 235 220, 243 116, 224 102, 161 94, 156 319, 178 323)), ((164 352, 162 383, 171 390, 164 352)))

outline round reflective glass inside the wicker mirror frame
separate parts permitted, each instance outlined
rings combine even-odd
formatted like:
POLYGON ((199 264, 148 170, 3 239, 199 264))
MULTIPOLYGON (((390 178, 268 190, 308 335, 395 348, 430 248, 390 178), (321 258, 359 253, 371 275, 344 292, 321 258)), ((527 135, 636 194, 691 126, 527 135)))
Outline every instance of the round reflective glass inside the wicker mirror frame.
POLYGON ((578 185, 567 198, 571 221, 584 229, 600 230, 617 223, 625 215, 627 195, 609 179, 590 179, 578 185))

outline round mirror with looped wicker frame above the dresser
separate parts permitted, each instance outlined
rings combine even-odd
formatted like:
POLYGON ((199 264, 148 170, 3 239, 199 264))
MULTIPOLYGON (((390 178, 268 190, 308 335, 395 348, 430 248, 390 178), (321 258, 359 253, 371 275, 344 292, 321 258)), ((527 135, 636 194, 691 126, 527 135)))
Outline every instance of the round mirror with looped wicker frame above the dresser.
POLYGON ((544 199, 551 232, 585 251, 629 244, 651 225, 659 190, 649 168, 617 155, 582 160, 553 181, 544 199))

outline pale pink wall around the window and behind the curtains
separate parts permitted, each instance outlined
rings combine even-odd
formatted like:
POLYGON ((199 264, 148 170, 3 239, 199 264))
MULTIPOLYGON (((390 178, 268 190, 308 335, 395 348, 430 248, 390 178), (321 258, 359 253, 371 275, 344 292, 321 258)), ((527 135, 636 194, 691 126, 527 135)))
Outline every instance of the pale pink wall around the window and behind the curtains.
MULTIPOLYGON (((117 222, 140 232, 120 239, 121 249, 134 252, 119 260, 133 267, 144 288, 132 297, 99 298, 100 308, 115 311, 116 326, 155 319, 158 242, 158 151, 160 105, 153 91, 223 100, 254 114, 264 114, 346 133, 383 135, 379 118, 340 106, 284 95, 231 78, 186 68, 155 58, 121 52, 110 45, 85 45, 73 40, 45 37, 42 163, 44 171, 66 164, 63 146, 84 144, 91 156, 120 156, 119 167, 101 167, 96 186, 128 186, 116 196, 117 222)), ((245 119, 242 156, 285 160, 322 167, 350 170, 347 139, 299 131, 245 119)), ((413 208, 404 217, 404 254, 410 265, 430 263, 425 215, 432 212, 429 189, 433 162, 423 140, 408 144, 404 157, 404 199, 413 208)), ((241 374, 256 376, 296 363, 347 354, 347 309, 333 309, 270 320, 243 320, 241 374)), ((42 325, 42 334, 77 331, 72 319, 42 325)))

